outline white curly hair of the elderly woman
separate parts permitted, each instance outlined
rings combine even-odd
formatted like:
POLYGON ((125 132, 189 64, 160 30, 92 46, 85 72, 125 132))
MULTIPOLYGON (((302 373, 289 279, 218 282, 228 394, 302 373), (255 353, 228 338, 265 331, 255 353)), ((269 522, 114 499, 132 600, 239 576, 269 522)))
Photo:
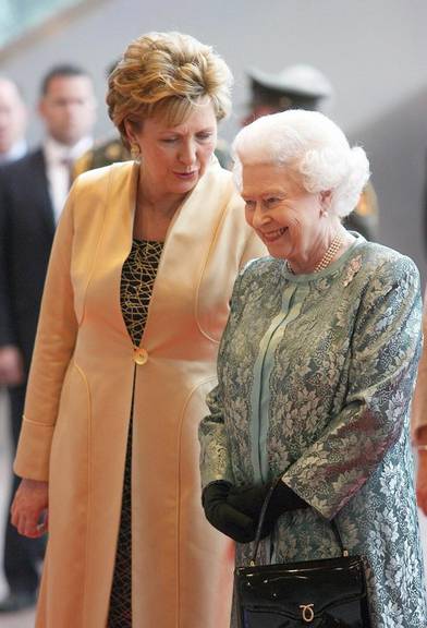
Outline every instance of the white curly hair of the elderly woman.
POLYGON ((340 218, 357 205, 369 179, 369 161, 361 146, 318 111, 291 109, 258 118, 233 142, 234 179, 242 188, 245 165, 283 166, 307 192, 331 191, 330 210, 340 218))

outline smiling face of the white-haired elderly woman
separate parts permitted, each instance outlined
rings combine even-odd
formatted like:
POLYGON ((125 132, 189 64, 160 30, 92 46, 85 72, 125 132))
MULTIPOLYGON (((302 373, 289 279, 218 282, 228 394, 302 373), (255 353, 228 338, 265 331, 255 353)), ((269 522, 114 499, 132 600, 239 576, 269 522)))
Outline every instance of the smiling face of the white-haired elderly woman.
POLYGON ((304 266, 316 258, 327 238, 329 192, 307 192, 289 168, 243 165, 242 197, 246 221, 270 255, 304 266))

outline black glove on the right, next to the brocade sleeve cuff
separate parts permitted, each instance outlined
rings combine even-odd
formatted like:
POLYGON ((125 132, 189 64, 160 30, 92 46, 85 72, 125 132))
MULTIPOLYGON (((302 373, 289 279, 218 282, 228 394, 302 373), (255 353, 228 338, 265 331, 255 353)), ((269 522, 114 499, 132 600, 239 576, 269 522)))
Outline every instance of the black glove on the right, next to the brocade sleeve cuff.
MULTIPOLYGON (((272 481, 258 486, 245 486, 241 488, 231 487, 227 503, 236 510, 240 510, 247 517, 251 517, 255 523, 258 522, 263 504, 267 493, 270 491, 272 481)), ((307 502, 302 499, 281 480, 277 482, 268 503, 267 511, 264 519, 261 539, 270 534, 277 519, 283 512, 297 510, 298 508, 308 508, 307 502)))

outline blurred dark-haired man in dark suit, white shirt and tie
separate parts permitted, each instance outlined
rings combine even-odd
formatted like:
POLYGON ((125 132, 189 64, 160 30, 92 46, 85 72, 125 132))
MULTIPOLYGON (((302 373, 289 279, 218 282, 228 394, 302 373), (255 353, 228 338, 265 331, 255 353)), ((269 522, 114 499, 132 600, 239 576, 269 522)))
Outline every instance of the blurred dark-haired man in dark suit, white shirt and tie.
MULTIPOLYGON (((54 228, 72 164, 91 146, 95 110, 87 73, 74 65, 53 68, 41 84, 42 146, 0 169, 0 384, 9 390, 14 447, 54 228)), ((12 495, 17 483, 14 478, 12 495)), ((42 539, 21 536, 8 522, 4 575, 10 592, 0 601, 0 613, 35 603, 42 553, 42 539)))

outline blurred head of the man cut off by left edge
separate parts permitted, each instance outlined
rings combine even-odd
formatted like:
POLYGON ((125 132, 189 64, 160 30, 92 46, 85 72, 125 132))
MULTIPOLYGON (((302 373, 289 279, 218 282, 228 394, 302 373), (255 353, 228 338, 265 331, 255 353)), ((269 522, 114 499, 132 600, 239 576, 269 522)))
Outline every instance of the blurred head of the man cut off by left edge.
POLYGON ((26 107, 16 85, 0 76, 0 165, 25 155, 26 123, 26 107))

